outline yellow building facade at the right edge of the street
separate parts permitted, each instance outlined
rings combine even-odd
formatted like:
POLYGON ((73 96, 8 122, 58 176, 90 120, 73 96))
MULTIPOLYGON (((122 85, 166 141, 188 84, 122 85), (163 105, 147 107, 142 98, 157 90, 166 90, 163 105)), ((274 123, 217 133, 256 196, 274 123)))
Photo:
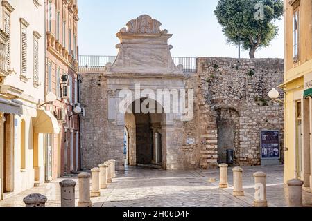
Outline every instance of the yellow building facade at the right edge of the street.
POLYGON ((285 0, 285 172, 312 190, 312 34, 311 1, 285 0))

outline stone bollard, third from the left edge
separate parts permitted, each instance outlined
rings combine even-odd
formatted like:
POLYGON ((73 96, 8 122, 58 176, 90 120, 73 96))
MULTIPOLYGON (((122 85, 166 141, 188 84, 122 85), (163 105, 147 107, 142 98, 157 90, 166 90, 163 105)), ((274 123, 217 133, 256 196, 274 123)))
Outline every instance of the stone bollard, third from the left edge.
POLYGON ((80 173, 79 180, 79 201, 78 207, 91 207, 90 200, 90 175, 89 173, 80 173))

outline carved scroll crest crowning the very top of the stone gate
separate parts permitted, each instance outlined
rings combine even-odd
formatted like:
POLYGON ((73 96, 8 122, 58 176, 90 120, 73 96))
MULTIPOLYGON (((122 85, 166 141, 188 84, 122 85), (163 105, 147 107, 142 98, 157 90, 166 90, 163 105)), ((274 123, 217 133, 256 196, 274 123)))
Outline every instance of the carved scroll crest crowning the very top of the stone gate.
POLYGON ((121 29, 121 32, 128 32, 132 34, 163 34, 167 30, 160 30, 162 23, 152 19, 149 15, 141 15, 137 19, 132 19, 127 23, 128 30, 121 29))

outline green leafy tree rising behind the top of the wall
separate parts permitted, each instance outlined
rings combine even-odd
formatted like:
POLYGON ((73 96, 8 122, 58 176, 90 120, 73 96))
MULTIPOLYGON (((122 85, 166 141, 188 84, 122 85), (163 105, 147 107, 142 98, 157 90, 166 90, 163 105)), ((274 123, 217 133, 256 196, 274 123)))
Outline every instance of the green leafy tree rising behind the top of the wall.
POLYGON ((283 15, 281 0, 220 0, 214 11, 229 44, 239 44, 254 58, 257 49, 278 35, 275 19, 283 15))

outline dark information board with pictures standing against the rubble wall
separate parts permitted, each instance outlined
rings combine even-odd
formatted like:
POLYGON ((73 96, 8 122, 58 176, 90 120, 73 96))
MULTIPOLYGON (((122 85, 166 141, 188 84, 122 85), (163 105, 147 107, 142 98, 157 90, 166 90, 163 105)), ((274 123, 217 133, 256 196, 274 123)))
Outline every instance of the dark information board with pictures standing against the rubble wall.
POLYGON ((278 130, 261 131, 261 165, 279 165, 281 158, 281 148, 278 130))

